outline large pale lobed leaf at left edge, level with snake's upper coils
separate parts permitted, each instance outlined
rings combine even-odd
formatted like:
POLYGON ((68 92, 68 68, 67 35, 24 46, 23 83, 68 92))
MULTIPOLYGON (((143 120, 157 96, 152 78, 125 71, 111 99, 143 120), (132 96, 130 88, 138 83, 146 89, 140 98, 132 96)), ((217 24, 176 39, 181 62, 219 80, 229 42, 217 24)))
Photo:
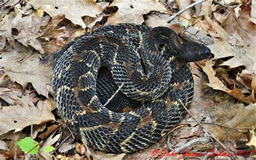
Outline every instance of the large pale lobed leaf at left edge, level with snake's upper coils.
POLYGON ((39 64, 36 54, 3 52, 1 58, 0 64, 12 81, 18 82, 23 88, 31 82, 38 94, 48 98, 46 85, 51 85, 51 67, 39 64))

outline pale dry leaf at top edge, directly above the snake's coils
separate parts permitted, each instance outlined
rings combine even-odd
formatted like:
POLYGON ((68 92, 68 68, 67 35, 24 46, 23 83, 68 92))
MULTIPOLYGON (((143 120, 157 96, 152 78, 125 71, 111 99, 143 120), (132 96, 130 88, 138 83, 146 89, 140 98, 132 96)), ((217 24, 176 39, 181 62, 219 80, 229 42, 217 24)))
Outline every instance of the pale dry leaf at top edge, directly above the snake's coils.
POLYGON ((118 11, 107 18, 105 25, 118 23, 135 23, 144 22, 143 15, 150 11, 167 12, 165 6, 157 0, 116 0, 110 6, 117 6, 118 11))

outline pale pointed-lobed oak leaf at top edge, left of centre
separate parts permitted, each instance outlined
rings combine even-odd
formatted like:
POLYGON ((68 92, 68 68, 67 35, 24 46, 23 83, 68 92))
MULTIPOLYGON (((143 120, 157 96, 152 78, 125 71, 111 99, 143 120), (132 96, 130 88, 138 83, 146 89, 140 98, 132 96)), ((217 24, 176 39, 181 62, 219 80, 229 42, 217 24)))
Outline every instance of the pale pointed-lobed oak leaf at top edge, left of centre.
POLYGON ((83 22, 82 17, 90 16, 96 17, 97 14, 102 13, 103 9, 100 8, 93 1, 79 1, 75 0, 72 2, 67 1, 40 1, 40 0, 29 0, 33 8, 41 9, 48 13, 51 17, 56 17, 57 15, 64 14, 65 17, 73 24, 82 26, 83 28, 86 25, 83 22))

